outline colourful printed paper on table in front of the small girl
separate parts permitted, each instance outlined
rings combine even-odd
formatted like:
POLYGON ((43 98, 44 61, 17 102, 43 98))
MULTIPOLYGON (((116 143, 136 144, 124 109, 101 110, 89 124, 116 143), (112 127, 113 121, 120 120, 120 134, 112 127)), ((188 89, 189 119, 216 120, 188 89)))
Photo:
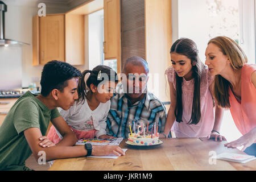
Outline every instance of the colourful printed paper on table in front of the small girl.
POLYGON ((106 144, 109 144, 111 146, 119 146, 119 144, 122 142, 123 138, 113 138, 113 139, 97 139, 97 138, 92 138, 92 139, 80 139, 77 140, 76 144, 78 145, 84 145, 85 143, 90 143, 93 146, 104 146, 106 144))

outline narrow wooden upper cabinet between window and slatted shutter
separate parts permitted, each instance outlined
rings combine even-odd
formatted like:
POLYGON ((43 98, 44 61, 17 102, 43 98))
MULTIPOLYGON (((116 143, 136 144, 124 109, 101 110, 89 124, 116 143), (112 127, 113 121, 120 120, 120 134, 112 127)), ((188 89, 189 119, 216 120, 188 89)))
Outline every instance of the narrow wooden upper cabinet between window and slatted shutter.
POLYGON ((117 59, 121 72, 121 19, 120 1, 104 0, 104 55, 105 60, 117 59))

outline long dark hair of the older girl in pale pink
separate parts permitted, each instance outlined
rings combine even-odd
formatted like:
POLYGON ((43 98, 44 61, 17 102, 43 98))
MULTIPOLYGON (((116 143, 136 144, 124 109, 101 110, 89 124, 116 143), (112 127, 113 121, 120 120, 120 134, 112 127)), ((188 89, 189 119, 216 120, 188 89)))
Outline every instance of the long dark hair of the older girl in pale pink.
MULTIPOLYGON (((180 55, 187 56, 191 60, 192 64, 192 76, 195 80, 194 93, 193 93, 193 105, 191 119, 189 120, 189 125, 196 125, 201 119, 201 109, 200 109, 200 79, 205 65, 200 61, 196 43, 191 39, 181 38, 176 40, 172 44, 170 53, 178 53, 180 55)), ((182 122, 183 106, 182 106, 182 84, 183 77, 176 75, 176 105, 175 105, 175 117, 177 122, 182 122)))

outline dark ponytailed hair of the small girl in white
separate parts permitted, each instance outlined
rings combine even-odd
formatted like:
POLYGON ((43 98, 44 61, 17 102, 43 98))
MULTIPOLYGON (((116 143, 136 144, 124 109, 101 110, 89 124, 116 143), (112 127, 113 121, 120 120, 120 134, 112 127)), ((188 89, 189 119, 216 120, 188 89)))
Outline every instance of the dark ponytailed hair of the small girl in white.
POLYGON ((103 84, 106 81, 114 81, 116 83, 118 82, 117 73, 106 65, 98 65, 97 67, 93 68, 92 71, 85 70, 82 72, 82 77, 79 80, 79 85, 77 88, 77 93, 79 96, 77 101, 80 104, 84 104, 85 99, 89 100, 88 93, 86 92, 86 86, 89 88, 88 92, 92 92, 92 90, 90 90, 91 84, 98 86, 99 84, 103 84), (90 73, 90 75, 87 78, 85 85, 85 75, 87 73, 90 73))

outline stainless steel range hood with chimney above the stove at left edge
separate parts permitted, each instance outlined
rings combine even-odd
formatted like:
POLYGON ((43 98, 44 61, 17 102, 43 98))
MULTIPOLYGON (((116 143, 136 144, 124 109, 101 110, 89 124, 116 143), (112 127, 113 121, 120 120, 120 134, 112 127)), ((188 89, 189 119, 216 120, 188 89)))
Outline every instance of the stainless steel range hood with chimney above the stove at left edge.
POLYGON ((9 46, 9 45, 29 45, 24 42, 19 42, 16 40, 5 39, 5 12, 7 11, 7 6, 5 3, 0 1, 0 46, 9 46))

